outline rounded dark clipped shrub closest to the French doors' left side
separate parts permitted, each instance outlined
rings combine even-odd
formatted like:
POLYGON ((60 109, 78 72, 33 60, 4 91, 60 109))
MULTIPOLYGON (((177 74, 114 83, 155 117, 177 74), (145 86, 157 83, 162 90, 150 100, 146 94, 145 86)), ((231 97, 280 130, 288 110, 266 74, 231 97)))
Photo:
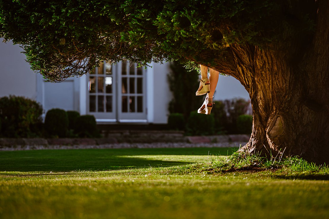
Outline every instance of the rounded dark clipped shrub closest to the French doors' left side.
POLYGON ((96 119, 92 115, 84 115, 77 118, 75 121, 75 133, 78 134, 79 137, 87 137, 87 138, 99 138, 100 133, 97 129, 96 119))

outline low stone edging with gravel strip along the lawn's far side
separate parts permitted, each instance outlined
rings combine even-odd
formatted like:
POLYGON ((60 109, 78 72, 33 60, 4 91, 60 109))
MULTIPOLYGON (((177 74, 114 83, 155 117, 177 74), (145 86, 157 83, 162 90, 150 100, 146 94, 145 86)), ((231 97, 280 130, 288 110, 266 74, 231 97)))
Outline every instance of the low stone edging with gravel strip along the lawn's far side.
POLYGON ((56 149, 70 148, 130 148, 130 147, 167 147, 173 145, 199 146, 239 146, 249 141, 248 135, 213 135, 184 136, 180 131, 113 131, 104 138, 0 138, 0 150, 21 149, 56 149), (164 144, 166 143, 166 144, 164 144), (138 146, 138 144, 143 146, 138 146), (152 145, 151 145, 152 144, 152 145), (103 146, 102 146, 103 145, 103 146), (135 145, 135 146, 134 146, 135 145), (137 146, 136 146, 137 145, 137 146), (146 146, 145 146, 146 145, 146 146), (158 146, 157 146, 158 145, 158 146), (159 146, 160 145, 160 146, 159 146), (7 148, 7 149, 6 149, 7 148))

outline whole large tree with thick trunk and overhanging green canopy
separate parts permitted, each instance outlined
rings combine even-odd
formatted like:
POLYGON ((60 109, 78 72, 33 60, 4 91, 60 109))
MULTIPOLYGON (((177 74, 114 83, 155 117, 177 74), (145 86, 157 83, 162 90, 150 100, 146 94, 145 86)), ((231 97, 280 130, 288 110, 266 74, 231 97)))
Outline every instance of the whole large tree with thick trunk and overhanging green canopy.
POLYGON ((249 93, 241 151, 318 163, 329 162, 328 23, 327 0, 0 0, 0 37, 48 80, 103 60, 203 64, 249 93))

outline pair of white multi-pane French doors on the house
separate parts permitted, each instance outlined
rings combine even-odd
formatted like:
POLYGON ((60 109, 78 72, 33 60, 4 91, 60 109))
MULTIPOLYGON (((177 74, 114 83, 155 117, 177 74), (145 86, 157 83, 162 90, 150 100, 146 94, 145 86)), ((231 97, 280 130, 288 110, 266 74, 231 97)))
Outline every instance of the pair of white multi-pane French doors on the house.
POLYGON ((98 121, 146 121, 144 68, 128 61, 102 63, 89 74, 89 114, 98 121))

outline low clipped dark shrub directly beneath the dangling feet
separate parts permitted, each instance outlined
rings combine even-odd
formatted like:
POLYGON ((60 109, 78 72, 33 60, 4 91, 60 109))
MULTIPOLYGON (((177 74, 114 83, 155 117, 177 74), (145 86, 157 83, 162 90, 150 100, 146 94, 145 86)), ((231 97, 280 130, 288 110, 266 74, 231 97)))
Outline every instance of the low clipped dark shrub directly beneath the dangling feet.
POLYGON ((190 113, 187 122, 187 134, 189 135, 211 135, 215 130, 215 119, 213 115, 200 114, 196 111, 190 113))

